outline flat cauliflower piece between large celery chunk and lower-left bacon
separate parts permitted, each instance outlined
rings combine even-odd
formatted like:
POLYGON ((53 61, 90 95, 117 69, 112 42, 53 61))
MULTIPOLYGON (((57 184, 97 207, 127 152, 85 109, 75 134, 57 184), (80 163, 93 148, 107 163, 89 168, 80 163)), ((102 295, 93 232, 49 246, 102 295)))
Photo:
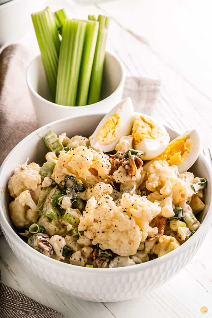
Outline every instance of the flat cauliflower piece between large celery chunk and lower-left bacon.
POLYGON ((68 226, 62 218, 59 220, 51 220, 50 218, 42 215, 39 220, 38 224, 44 226, 46 233, 50 236, 52 235, 61 235, 64 236, 70 232, 72 227, 68 226))

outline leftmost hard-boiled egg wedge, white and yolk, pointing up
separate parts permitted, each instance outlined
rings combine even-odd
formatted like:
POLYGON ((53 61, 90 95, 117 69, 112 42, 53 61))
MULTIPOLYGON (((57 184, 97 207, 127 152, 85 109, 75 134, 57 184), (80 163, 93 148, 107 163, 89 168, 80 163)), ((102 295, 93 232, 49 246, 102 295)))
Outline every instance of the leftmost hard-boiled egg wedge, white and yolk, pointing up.
POLYGON ((103 117, 94 133, 89 137, 94 149, 112 151, 122 136, 129 135, 133 126, 132 100, 127 97, 103 117))

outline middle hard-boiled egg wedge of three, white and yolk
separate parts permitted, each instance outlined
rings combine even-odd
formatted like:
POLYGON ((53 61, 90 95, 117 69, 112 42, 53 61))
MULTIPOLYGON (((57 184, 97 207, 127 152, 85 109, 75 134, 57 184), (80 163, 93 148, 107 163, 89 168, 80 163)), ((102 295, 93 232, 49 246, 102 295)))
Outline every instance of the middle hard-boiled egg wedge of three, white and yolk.
POLYGON ((166 128, 157 120, 143 114, 136 114, 133 121, 133 149, 145 152, 142 160, 159 156, 169 143, 166 128))

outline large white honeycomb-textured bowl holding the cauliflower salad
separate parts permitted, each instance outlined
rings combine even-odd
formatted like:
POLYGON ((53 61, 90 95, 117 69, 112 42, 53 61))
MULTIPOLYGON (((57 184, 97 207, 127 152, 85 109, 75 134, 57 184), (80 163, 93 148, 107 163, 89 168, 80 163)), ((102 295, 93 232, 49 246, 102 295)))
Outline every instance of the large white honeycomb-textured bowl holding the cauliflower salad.
MULTIPOLYGON (((123 301, 153 290, 178 273, 195 255, 212 221, 211 211, 211 169, 201 154, 191 171, 196 176, 208 180, 205 191, 206 206, 201 215, 202 224, 197 232, 179 248, 149 262, 121 268, 87 268, 65 264, 50 259, 32 249, 14 232, 8 215, 10 196, 7 183, 17 165, 26 158, 30 162, 44 162, 47 151, 41 139, 51 129, 56 134, 66 132, 68 136, 92 134, 102 118, 102 114, 72 117, 55 121, 39 128, 24 138, 7 156, 0 170, 0 224, 7 242, 15 255, 31 269, 44 284, 49 284, 61 292, 88 301, 123 301)), ((178 136, 167 128, 171 139, 178 136)))

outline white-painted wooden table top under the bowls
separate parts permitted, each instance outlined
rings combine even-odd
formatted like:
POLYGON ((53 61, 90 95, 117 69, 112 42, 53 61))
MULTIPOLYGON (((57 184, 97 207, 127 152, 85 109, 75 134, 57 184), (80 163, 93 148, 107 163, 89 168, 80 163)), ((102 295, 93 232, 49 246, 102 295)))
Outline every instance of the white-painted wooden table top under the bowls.
MULTIPOLYGON (((212 147, 211 1, 116 0, 99 4, 47 1, 70 17, 112 17, 108 50, 116 53, 127 75, 161 79, 152 115, 179 132, 197 128, 206 155, 212 147)), ((38 52, 33 30, 21 40, 38 52)), ((46 287, 24 267, 0 238, 2 280, 65 317, 125 318, 212 317, 212 229, 194 259, 164 286, 120 303, 92 303, 46 287)))

